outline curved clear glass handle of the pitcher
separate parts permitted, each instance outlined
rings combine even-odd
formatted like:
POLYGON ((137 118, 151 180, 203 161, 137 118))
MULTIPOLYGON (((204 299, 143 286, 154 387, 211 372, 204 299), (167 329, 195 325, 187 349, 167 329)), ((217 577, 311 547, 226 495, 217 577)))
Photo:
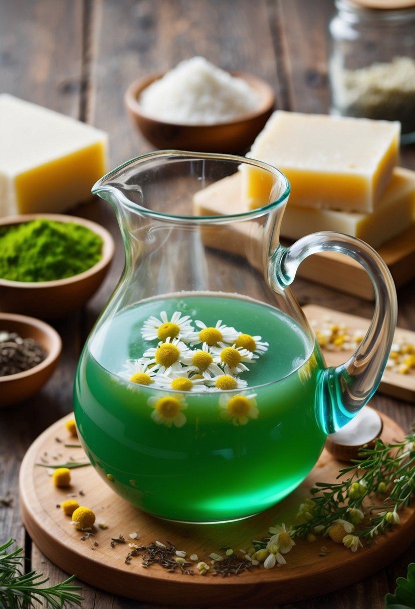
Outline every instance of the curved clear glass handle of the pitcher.
POLYGON ((397 298, 391 273, 378 253, 360 239, 330 231, 309 234, 290 247, 279 245, 271 256, 271 286, 284 290, 304 258, 328 251, 360 262, 375 292, 373 319, 357 350, 344 364, 326 368, 319 378, 316 407, 324 431, 331 434, 368 403, 380 383, 394 338, 397 298))

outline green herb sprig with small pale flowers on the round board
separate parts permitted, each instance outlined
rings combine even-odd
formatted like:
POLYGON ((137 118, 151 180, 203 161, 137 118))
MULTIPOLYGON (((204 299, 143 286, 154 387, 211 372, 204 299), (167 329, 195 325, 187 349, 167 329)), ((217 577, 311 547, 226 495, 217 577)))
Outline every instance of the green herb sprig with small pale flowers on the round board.
POLYGON ((378 439, 374 448, 363 447, 359 459, 339 471, 334 483, 317 482, 312 498, 300 506, 293 534, 307 537, 324 535, 338 519, 358 526, 354 535, 371 543, 374 535, 399 523, 398 512, 410 504, 415 495, 415 429, 402 442, 385 444, 378 439), (378 499, 369 505, 368 499, 378 499), (380 505, 379 505, 380 503, 380 505), (369 523, 364 524, 364 510, 369 509, 369 523))

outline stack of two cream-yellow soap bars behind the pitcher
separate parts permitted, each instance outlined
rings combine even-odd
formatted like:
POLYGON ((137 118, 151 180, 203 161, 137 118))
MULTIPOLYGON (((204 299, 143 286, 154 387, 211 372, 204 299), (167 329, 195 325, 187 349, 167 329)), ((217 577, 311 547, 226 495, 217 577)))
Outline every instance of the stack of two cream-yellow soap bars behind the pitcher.
MULTIPOLYGON (((415 221, 415 172, 397 167, 398 122, 276 111, 248 157, 280 169, 291 183, 281 234, 351 234, 378 247, 415 221)), ((250 208, 269 200, 255 169, 243 171, 250 208)))

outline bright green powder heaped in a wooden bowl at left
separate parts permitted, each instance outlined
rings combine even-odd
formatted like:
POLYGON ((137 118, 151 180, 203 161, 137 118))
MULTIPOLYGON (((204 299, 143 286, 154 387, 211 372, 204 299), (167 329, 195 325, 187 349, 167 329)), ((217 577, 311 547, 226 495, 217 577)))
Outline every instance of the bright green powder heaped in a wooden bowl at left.
POLYGON ((78 275, 102 258, 102 238, 74 222, 39 218, 0 229, 0 278, 55 281, 78 275))

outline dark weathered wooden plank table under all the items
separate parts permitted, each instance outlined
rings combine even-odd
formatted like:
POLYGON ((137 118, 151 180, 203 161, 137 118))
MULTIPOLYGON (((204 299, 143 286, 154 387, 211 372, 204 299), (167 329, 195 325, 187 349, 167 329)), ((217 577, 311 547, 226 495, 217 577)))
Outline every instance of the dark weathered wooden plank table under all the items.
MULTIPOLYGON (((106 130, 110 167, 114 167, 152 150, 131 128, 125 113, 122 97, 128 83, 194 55, 267 79, 279 108, 326 113, 325 33, 332 11, 331 0, 5 0, 0 4, 0 90, 106 130)), ((414 146, 402 149, 402 165, 415 169, 414 146)), ((63 353, 46 387, 32 400, 0 410, 0 495, 10 491, 13 499, 11 505, 0 505, 0 541, 15 538, 26 549, 30 568, 54 581, 66 574, 31 543, 21 523, 19 465, 33 440, 71 412, 80 350, 124 264, 110 206, 96 199, 75 211, 105 225, 116 239, 111 272, 84 309, 53 322, 63 339, 63 353)), ((372 303, 304 280, 295 281, 294 292, 301 305, 315 303, 372 316, 372 303)), ((399 326, 411 330, 415 329, 414 294, 414 281, 398 292, 399 326)), ((372 405, 410 430, 413 404, 378 394, 372 405)), ((414 555, 412 544, 399 560, 372 577, 295 607, 380 609, 385 594, 395 589, 396 578, 406 574, 414 555)), ((88 585, 83 586, 83 595, 87 609, 155 607, 114 598, 88 585)))

